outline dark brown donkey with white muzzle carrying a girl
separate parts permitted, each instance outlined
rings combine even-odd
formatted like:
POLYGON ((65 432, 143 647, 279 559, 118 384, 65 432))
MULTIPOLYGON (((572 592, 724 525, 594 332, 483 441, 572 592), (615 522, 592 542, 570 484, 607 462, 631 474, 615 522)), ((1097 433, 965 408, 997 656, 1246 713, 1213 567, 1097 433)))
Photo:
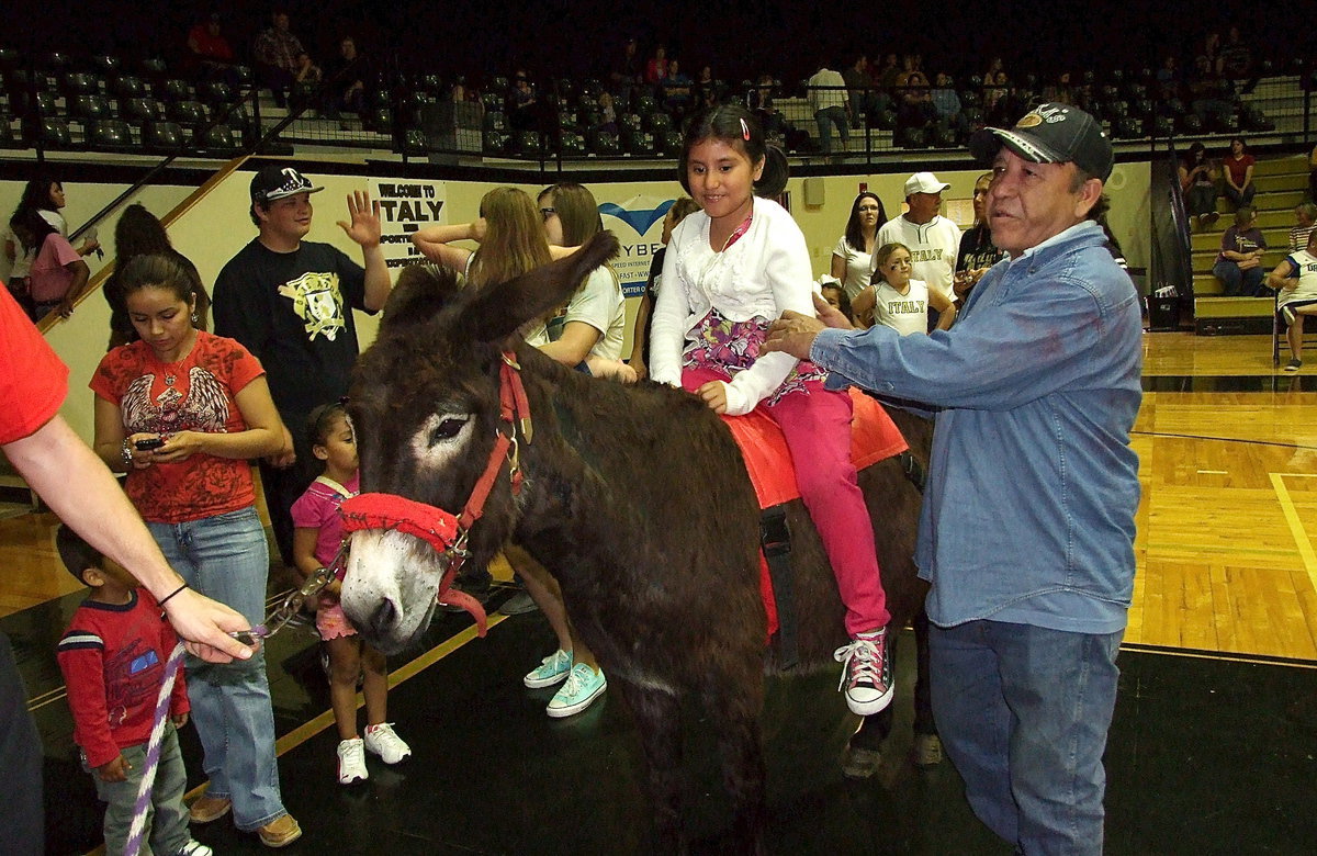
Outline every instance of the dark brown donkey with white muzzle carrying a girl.
MULTIPOLYGON (((352 385, 361 486, 457 514, 487 482, 497 433, 510 431, 499 382, 504 354, 515 352, 532 429, 516 432, 507 456, 524 481, 515 490, 503 466, 468 532, 469 561, 487 562, 514 541, 557 578, 581 639, 636 719, 664 851, 684 844, 682 698, 703 702, 736 840, 753 852, 765 820, 757 715, 765 669, 778 661, 760 598, 760 510, 731 432, 694 395, 586 377, 518 334, 616 248, 612 236, 597 236, 569 258, 478 291, 458 291, 450 275, 399 286, 352 385)), ((921 420, 893 417, 925 453, 921 420)), ((911 560, 919 494, 896 460, 864 469, 860 485, 900 628, 923 595, 911 560)), ((798 669, 835 665, 834 649, 848 641, 844 610, 798 499, 788 525, 798 669)), ((396 652, 428 626, 448 560, 396 528, 352 539, 342 604, 366 639, 396 652)))

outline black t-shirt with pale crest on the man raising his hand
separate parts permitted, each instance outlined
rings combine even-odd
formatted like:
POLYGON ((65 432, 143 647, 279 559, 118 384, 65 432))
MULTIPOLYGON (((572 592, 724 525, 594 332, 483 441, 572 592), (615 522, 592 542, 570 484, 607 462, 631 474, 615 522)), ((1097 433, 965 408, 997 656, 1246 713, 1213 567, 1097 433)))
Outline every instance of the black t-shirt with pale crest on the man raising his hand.
POLYGON ((348 394, 358 353, 352 309, 366 308, 366 271, 338 249, 303 241, 275 253, 253 240, 220 271, 213 300, 215 333, 261 361, 281 414, 348 394))

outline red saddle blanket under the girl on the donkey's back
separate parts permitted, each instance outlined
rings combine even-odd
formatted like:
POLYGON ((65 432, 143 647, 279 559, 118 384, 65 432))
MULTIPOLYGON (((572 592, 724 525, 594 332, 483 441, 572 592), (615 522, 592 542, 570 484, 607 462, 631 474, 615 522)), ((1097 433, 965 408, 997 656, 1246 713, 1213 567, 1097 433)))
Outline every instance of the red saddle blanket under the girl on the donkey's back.
MULTIPOLYGON (((856 470, 885 461, 909 449, 909 444, 897 429, 892 417, 876 400, 851 387, 851 460, 856 470)), ((801 495, 795 486, 795 469, 792 454, 777 423, 757 407, 744 416, 723 416, 732 431, 732 437, 741 450, 745 471, 755 486, 760 508, 772 508, 790 502, 801 495)), ((759 587, 764 598, 764 611, 768 612, 769 636, 777 632, 777 603, 773 598, 773 583, 768 573, 768 561, 763 553, 759 557, 759 587)))

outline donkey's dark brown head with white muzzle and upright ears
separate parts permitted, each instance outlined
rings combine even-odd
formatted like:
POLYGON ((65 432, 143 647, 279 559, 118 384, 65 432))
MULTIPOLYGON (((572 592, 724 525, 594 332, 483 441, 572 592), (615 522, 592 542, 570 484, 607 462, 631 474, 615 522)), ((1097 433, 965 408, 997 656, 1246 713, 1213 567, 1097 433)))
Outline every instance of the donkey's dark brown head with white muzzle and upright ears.
MULTIPOLYGON (((561 306, 616 249, 605 233, 569 258, 479 290, 458 290, 448 271, 400 278, 379 334, 353 375, 349 412, 362 493, 461 514, 498 431, 507 429, 499 410, 502 353, 515 348, 519 329, 561 306)), ((502 548, 516 514, 504 469, 469 533, 473 566, 502 548)), ((353 624, 385 652, 415 641, 429 626, 444 556, 411 535, 365 529, 352 536, 349 562, 342 604, 353 624)))

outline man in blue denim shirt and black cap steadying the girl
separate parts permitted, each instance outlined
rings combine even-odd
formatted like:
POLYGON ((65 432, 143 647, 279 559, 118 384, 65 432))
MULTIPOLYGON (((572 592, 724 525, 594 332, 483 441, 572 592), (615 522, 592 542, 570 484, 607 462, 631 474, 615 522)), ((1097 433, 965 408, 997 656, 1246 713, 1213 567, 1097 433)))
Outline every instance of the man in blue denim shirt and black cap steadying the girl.
POLYGON ((1023 853, 1102 851, 1102 751, 1134 587, 1141 317, 1092 221, 1112 146, 1042 104, 971 150, 1008 258, 951 331, 786 313, 768 350, 936 412, 918 564, 932 705, 975 814, 1023 853))

